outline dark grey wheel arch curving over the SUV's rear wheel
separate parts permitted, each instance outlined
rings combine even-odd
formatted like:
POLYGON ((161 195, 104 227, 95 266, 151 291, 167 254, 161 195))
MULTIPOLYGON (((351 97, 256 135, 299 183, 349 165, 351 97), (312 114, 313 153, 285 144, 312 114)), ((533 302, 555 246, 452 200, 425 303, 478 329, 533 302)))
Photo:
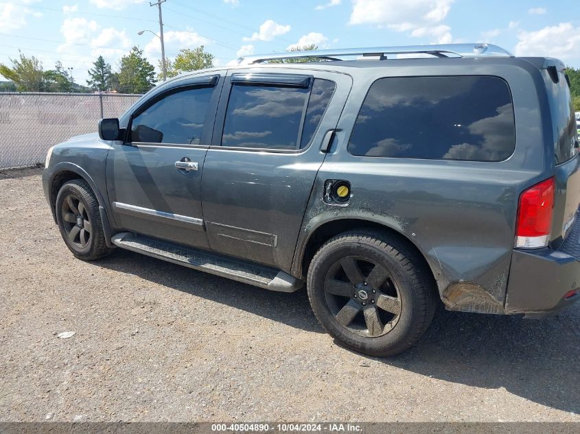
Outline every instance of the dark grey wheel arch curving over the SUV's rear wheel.
POLYGON ((297 245, 297 252, 292 264, 292 274, 294 276, 303 277, 305 270, 308 270, 308 266, 310 265, 310 261, 312 261, 314 254, 326 241, 342 232, 347 232, 348 230, 353 229, 380 230, 396 237, 399 241, 408 245, 410 249, 414 250, 419 257, 423 259, 424 265, 430 272, 434 282, 436 282, 437 287, 441 286, 439 279, 437 278, 437 276, 442 276, 441 269, 428 261, 428 256, 422 252, 417 243, 409 237, 406 237, 399 228, 394 228, 393 226, 386 224, 384 221, 349 216, 321 221, 317 226, 312 227, 307 236, 303 237, 303 241, 299 241, 299 244, 297 245))

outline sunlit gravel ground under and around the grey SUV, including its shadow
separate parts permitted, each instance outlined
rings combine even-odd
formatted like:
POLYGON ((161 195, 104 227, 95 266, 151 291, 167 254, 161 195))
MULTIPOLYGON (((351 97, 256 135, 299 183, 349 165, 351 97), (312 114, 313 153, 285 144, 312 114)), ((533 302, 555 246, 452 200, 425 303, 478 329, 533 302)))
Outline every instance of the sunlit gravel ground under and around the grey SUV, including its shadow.
POLYGON ((305 291, 123 250, 78 261, 38 169, 0 173, 0 246, 1 421, 580 422, 580 303, 533 321, 440 311, 412 350, 363 357, 305 291))

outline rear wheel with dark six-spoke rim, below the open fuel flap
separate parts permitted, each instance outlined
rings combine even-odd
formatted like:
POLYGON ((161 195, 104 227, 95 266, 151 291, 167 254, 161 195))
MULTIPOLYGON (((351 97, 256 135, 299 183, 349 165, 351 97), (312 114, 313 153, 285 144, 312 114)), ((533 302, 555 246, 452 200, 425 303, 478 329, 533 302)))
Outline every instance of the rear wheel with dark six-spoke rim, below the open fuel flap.
POLYGON ((437 306, 424 259, 380 231, 355 230, 327 241, 308 269, 314 315, 343 346, 384 357, 413 346, 437 306))

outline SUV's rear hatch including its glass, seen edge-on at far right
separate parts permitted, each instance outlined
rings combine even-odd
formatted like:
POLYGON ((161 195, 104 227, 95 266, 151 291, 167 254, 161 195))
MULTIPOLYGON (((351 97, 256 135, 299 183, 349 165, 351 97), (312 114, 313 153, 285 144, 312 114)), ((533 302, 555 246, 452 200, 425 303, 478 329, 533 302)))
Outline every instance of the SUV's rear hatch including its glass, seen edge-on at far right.
POLYGON ((556 196, 551 239, 557 247, 570 233, 580 204, 580 157, 570 82, 564 64, 546 59, 542 68, 548 94, 555 158, 556 196))

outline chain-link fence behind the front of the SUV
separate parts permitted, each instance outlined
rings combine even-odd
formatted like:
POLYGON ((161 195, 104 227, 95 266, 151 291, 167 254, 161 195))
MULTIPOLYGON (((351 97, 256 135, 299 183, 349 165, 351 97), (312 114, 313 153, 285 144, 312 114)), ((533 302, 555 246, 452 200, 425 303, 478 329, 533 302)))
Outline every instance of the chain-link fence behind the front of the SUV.
POLYGON ((0 169, 44 162, 56 143, 97 131, 102 117, 119 117, 141 95, 0 93, 0 169))

